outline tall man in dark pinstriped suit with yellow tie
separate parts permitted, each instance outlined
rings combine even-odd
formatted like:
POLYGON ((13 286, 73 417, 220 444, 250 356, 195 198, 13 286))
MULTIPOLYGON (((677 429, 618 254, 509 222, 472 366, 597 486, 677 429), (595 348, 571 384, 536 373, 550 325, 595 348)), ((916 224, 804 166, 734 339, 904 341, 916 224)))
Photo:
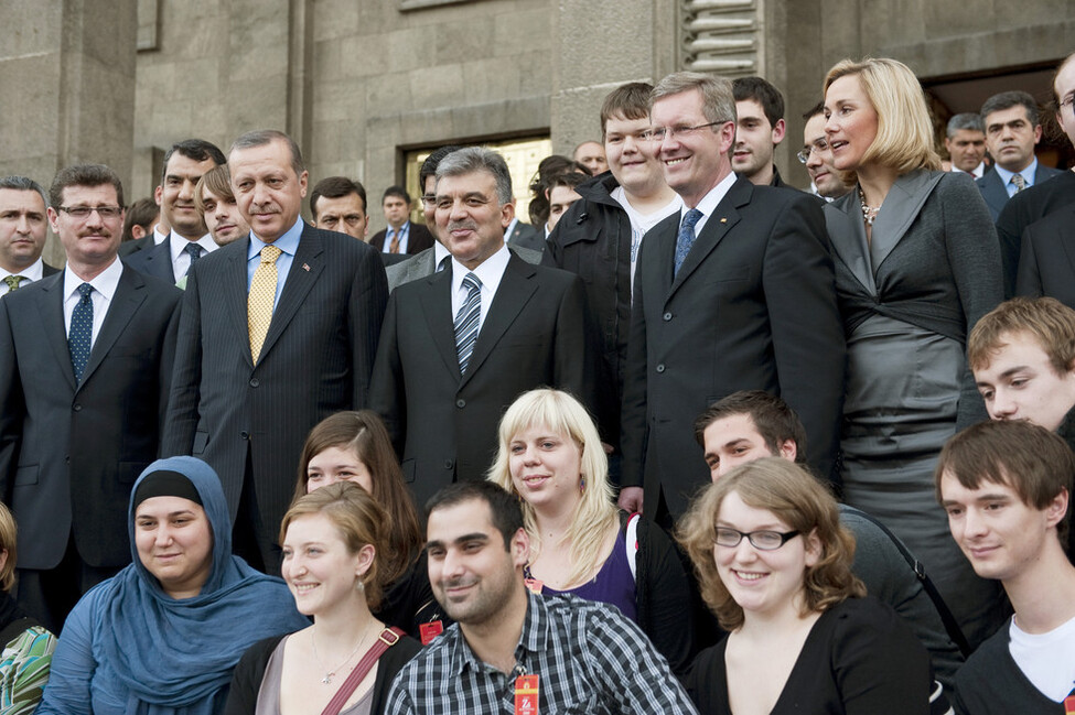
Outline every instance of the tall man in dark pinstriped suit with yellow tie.
POLYGON ((307 172, 290 137, 248 132, 228 167, 250 235, 187 277, 164 454, 216 469, 236 552, 276 572, 307 433, 366 407, 387 289, 368 245, 301 220, 307 172))

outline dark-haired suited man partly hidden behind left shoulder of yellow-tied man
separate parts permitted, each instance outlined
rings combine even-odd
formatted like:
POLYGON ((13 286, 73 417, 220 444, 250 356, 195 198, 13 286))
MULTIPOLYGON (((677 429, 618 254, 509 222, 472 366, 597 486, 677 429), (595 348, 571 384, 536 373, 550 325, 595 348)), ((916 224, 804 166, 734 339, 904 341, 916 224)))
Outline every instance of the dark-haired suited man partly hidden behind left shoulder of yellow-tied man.
POLYGON ((128 266, 176 283, 186 275, 192 262, 216 250, 216 242, 194 205, 194 187, 202 174, 225 161, 224 152, 202 139, 172 144, 164 154, 161 185, 157 187, 161 216, 171 231, 157 246, 130 253, 125 259, 128 266))

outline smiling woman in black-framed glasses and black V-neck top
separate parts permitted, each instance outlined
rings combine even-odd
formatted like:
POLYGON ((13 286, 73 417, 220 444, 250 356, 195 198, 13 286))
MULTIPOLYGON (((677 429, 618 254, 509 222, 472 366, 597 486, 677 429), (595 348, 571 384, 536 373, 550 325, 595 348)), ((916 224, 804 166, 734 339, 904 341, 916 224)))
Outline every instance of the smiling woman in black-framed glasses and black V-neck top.
POLYGON ((836 499, 800 466, 766 457, 721 477, 679 540, 729 631, 687 678, 701 713, 929 712, 925 648, 866 596, 836 499))

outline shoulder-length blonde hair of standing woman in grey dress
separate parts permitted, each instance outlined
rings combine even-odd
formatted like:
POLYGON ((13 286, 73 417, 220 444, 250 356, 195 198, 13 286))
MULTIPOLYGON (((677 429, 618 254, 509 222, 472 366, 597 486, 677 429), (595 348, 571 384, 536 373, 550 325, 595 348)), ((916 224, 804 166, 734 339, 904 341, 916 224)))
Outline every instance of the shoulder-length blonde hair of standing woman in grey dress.
MULTIPOLYGON (((922 85, 911 68, 888 57, 861 62, 842 59, 825 76, 825 91, 840 77, 857 75, 878 113, 878 133, 860 164, 875 163, 900 174, 916 169, 940 169, 934 148, 933 122, 922 85)), ((858 181, 854 170, 840 172, 846 183, 858 181)))

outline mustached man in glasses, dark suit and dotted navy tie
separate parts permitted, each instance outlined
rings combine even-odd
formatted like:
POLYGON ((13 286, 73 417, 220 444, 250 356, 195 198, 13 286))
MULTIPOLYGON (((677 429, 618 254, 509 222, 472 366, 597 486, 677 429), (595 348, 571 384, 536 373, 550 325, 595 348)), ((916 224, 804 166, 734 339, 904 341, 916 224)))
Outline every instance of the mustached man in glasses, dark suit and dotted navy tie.
POLYGON ((67 268, 0 301, 0 485, 19 600, 55 629, 130 562, 127 502, 157 458, 182 293, 117 260, 110 169, 62 170, 50 199, 67 268))

